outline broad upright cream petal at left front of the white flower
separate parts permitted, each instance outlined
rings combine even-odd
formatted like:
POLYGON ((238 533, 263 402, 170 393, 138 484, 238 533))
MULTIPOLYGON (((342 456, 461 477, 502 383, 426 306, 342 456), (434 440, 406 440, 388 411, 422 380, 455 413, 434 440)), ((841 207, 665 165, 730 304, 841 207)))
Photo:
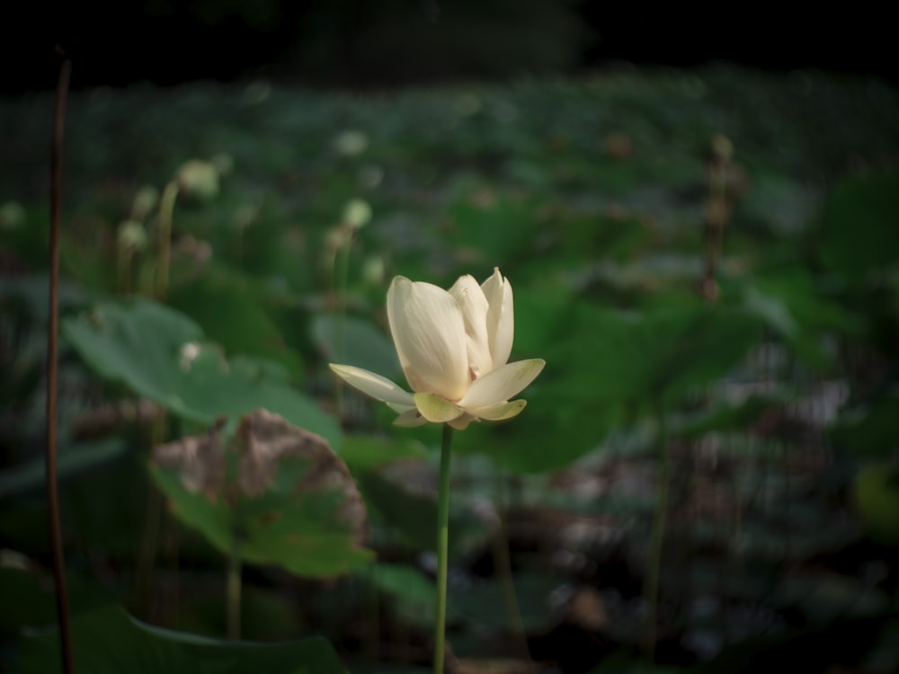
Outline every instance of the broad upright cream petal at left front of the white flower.
POLYGON ((465 395, 470 381, 465 321, 446 290, 397 276, 387 290, 387 319, 414 391, 448 400, 465 395))

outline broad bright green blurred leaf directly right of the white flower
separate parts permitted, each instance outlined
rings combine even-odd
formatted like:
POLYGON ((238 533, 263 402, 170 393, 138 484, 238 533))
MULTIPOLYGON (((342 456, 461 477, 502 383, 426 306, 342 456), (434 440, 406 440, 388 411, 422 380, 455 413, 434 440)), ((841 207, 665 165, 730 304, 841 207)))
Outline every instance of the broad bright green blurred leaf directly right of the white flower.
POLYGON ((627 314, 575 302, 543 313, 543 345, 525 336, 529 355, 547 360, 521 393, 528 406, 499 424, 476 424, 454 439, 516 473, 567 466, 599 446, 621 412, 673 401, 716 381, 755 339, 756 320, 724 307, 672 306, 627 314))

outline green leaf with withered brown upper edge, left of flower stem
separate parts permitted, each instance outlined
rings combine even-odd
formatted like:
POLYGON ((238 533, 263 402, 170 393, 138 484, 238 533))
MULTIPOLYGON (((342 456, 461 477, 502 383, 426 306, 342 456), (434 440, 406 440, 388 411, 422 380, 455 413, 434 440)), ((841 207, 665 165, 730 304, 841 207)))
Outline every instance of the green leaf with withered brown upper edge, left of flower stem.
POLYGON ((154 451, 153 477, 174 514, 224 554, 330 577, 368 563, 365 507, 325 441, 275 414, 154 451), (224 433, 222 433, 224 434, 224 433))

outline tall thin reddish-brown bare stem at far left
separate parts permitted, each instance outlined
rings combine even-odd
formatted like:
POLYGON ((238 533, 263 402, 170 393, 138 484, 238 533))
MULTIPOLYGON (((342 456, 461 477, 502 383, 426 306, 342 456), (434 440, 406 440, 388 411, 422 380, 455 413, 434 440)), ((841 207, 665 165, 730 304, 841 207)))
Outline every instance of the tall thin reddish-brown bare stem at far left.
POLYGON ((59 68, 56 111, 53 120, 53 140, 50 150, 50 283, 49 322, 47 326, 47 510, 49 511, 49 536, 53 548, 53 580, 56 584, 57 619, 59 621, 59 647, 62 652, 63 671, 74 671, 72 662, 72 636, 68 622, 68 590, 66 587, 66 560, 63 555, 62 524, 59 515, 57 485, 57 338, 59 332, 59 192, 62 182, 62 137, 66 120, 66 94, 72 62, 63 61, 59 68))

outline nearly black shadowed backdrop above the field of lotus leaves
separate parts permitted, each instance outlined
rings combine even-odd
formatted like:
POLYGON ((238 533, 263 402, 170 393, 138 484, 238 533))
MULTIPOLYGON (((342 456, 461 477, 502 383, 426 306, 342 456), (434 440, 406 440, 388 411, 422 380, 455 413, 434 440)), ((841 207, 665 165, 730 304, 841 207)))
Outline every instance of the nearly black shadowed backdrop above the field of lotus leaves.
MULTIPOLYGON (((886 5, 884 5, 886 7, 886 5)), ((896 82, 892 25, 857 5, 686 10, 600 0, 92 0, 7 3, 3 93, 53 86, 55 48, 73 85, 266 76, 378 87, 576 74, 620 62, 727 60, 896 82)))

